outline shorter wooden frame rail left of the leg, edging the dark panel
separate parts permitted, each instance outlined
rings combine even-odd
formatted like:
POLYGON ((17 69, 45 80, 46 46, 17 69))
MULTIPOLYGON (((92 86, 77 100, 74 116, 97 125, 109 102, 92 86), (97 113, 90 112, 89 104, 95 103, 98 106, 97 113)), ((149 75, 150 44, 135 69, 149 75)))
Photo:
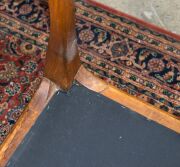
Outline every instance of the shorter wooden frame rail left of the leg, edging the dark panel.
POLYGON ((59 88, 50 80, 46 78, 42 80, 39 89, 23 112, 23 115, 0 146, 0 167, 4 167, 7 164, 8 160, 34 125, 49 100, 58 90, 59 88))

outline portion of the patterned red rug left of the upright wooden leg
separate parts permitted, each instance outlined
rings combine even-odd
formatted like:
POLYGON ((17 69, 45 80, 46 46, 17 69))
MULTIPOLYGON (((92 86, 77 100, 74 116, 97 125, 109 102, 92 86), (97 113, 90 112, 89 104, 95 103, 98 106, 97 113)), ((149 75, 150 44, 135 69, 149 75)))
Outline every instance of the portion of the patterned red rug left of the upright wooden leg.
POLYGON ((48 35, 43 32, 46 29, 42 20, 47 5, 45 8, 36 1, 29 3, 0 1, 0 145, 43 76, 48 35))

